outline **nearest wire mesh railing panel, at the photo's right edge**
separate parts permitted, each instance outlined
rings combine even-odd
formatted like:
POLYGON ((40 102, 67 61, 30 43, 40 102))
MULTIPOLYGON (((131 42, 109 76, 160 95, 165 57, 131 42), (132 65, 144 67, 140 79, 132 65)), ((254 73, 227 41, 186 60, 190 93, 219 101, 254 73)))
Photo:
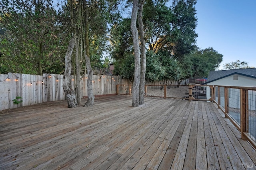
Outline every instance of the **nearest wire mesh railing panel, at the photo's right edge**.
POLYGON ((248 135, 256 141, 256 91, 248 90, 248 116, 246 116, 246 128, 248 135))

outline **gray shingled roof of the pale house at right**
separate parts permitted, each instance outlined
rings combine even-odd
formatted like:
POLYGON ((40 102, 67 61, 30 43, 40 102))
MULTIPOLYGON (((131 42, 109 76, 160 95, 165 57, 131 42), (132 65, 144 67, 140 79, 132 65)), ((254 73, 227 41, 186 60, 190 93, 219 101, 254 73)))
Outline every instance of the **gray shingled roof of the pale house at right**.
POLYGON ((225 77, 232 73, 240 73, 240 74, 256 77, 256 68, 210 71, 210 73, 207 77, 206 83, 209 81, 214 81, 216 79, 220 79, 221 77, 225 77))

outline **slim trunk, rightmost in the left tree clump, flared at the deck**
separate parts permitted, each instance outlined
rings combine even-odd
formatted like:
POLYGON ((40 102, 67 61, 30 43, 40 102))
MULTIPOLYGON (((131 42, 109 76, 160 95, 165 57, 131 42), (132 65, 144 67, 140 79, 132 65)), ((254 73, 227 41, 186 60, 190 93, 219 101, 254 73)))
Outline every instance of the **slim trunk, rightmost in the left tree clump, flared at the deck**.
POLYGON ((86 101, 84 106, 92 106, 94 102, 94 95, 93 95, 93 88, 92 88, 93 71, 92 71, 92 66, 90 62, 88 8, 85 9, 85 49, 86 49, 85 62, 86 62, 86 68, 87 68, 87 74, 88 74, 88 79, 87 79, 88 100, 86 101))

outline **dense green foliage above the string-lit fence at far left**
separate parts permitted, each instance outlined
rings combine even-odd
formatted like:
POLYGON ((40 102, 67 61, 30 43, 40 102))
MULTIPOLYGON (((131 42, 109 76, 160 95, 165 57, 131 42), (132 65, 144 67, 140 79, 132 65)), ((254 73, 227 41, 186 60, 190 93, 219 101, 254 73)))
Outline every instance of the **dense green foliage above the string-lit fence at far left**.
POLYGON ((63 71, 57 45, 59 23, 52 0, 0 2, 2 66, 7 71, 42 75, 63 71))

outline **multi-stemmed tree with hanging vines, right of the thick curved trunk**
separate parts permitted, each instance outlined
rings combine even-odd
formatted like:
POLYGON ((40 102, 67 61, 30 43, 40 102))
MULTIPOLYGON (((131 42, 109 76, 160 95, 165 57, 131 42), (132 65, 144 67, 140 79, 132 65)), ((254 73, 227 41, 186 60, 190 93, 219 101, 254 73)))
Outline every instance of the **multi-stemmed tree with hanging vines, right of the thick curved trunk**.
POLYGON ((92 106, 94 103, 92 77, 92 63, 101 65, 100 57, 105 49, 107 24, 112 17, 112 11, 116 10, 117 0, 82 0, 68 1, 65 4, 63 15, 68 13, 71 25, 70 37, 76 38, 76 53, 74 57, 74 74, 76 75, 76 96, 80 103, 80 81, 81 75, 86 73, 87 69, 87 92, 88 100, 84 106, 92 106), (96 62, 94 62, 96 61, 96 62), (85 63, 85 65, 84 65, 85 63), (84 71, 82 70, 84 69, 84 71))

